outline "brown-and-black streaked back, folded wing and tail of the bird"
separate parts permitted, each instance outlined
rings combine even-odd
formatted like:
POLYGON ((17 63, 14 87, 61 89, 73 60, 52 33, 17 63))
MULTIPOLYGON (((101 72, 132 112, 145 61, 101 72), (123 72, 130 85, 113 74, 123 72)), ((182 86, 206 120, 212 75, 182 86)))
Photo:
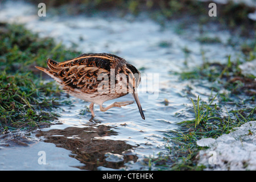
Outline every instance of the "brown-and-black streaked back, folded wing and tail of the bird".
POLYGON ((123 64, 126 64, 126 61, 115 55, 89 53, 61 63, 48 59, 48 68, 36 68, 46 72, 64 88, 79 89, 82 92, 90 93, 96 91, 102 80, 110 81, 110 70, 115 69, 115 73, 117 73, 123 64))

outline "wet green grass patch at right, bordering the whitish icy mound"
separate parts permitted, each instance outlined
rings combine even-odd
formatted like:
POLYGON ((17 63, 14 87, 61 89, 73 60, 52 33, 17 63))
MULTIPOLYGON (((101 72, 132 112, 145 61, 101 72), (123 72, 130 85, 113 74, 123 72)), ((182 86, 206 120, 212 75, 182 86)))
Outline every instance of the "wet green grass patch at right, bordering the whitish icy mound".
MULTIPOLYGON (((252 55, 255 55, 254 48, 245 55, 243 63, 251 61, 252 55)), ((241 64, 239 60, 232 62, 229 56, 226 64, 204 61, 201 67, 180 74, 182 80, 193 80, 199 85, 201 81, 205 83, 205 80, 208 80, 212 83, 208 86, 209 90, 218 94, 212 97, 211 92, 208 101, 201 101, 200 96, 196 99, 191 98, 192 112, 195 117, 180 122, 180 129, 172 131, 166 137, 167 142, 171 143, 168 149, 174 158, 171 169, 204 169, 204 166, 197 166, 197 156, 205 147, 197 146, 197 140, 220 137, 243 123, 256 120, 255 76, 243 75, 240 69, 241 64)), ((248 134, 251 134, 250 131, 248 134)))

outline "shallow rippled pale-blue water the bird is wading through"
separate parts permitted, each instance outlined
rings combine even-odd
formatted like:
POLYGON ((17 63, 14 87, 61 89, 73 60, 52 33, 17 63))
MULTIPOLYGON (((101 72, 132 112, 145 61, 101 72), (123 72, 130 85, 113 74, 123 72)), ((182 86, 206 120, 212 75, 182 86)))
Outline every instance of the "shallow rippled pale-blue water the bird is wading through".
MULTIPOLYGON (((226 63, 228 55, 237 56, 236 49, 227 46, 232 36, 213 24, 204 27, 204 34, 218 36, 221 43, 201 44, 197 41, 200 27, 191 24, 179 29, 179 20, 166 22, 162 27, 146 15, 118 18, 98 13, 90 17, 52 14, 39 17, 37 10, 27 3, 7 2, 1 6, 0 20, 24 23, 40 36, 51 36, 67 47, 76 44, 76 49, 84 53, 114 53, 141 68, 139 99, 146 120, 133 104, 105 113, 96 105, 96 117, 89 121, 90 113, 85 111, 89 103, 64 94, 61 99, 72 101, 72 105, 57 110, 61 115, 57 124, 34 132, 33 137, 27 136, 36 140, 28 147, 3 147, 0 169, 147 169, 143 159, 159 152, 168 154, 166 134, 179 129, 177 122, 193 118, 188 109, 192 105, 189 98, 200 95, 207 100, 210 94, 209 82, 198 85, 180 81, 174 72, 196 67, 204 60, 226 63), (190 93, 186 91, 188 86, 190 93), (38 164, 39 151, 46 152, 48 166, 38 164), (96 154, 99 155, 96 159, 90 159, 96 154), (12 156, 16 156, 19 165, 14 165, 12 156), (32 164, 28 165, 30 160, 32 164)), ((129 100, 134 100, 131 94, 115 101, 129 100)))

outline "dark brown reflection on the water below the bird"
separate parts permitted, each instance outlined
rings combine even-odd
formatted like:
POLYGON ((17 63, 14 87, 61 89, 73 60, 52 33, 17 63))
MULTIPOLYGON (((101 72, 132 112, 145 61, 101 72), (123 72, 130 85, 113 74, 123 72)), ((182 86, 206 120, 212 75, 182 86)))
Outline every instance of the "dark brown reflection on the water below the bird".
POLYGON ((44 142, 72 151, 72 157, 85 164, 79 166, 80 169, 97 170, 99 166, 118 169, 129 160, 136 162, 137 156, 129 152, 133 148, 130 144, 121 140, 96 139, 117 135, 111 129, 105 125, 67 127, 64 130, 38 131, 36 137, 44 137, 44 142))

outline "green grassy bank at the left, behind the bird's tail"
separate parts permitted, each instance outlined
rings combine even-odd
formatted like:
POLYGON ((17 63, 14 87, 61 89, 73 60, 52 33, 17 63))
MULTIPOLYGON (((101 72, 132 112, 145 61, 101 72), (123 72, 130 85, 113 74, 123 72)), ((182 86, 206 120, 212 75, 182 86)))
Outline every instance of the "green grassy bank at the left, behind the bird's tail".
POLYGON ((48 57, 64 61, 79 53, 18 24, 1 23, 0 42, 0 133, 34 129, 57 119, 52 111, 60 105, 60 89, 42 82, 34 65, 46 66, 48 57))

